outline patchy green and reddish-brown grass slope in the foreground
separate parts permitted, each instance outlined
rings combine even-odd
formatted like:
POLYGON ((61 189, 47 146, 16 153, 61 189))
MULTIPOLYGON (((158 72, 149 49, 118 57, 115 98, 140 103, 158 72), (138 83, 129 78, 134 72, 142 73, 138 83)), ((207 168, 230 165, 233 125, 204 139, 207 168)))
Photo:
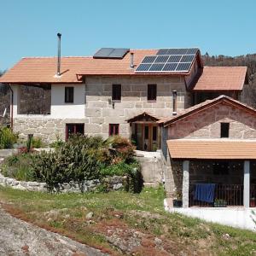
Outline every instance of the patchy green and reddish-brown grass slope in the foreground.
POLYGON ((52 195, 0 187, 0 198, 15 216, 112 254, 124 253, 113 237, 130 241, 135 233, 143 237, 141 245, 133 248, 137 255, 256 253, 251 231, 165 212, 161 187, 143 189, 139 195, 124 191, 52 195), (88 212, 94 213, 90 220, 88 212), (156 238, 160 246, 155 245, 156 238))

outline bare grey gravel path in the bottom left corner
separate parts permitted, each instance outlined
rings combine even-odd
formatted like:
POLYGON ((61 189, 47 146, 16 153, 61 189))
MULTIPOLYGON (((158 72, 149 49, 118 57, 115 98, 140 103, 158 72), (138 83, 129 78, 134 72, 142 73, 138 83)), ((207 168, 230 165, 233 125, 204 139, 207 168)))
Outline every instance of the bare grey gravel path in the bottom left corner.
POLYGON ((14 218, 0 207, 0 255, 102 256, 107 254, 14 218))

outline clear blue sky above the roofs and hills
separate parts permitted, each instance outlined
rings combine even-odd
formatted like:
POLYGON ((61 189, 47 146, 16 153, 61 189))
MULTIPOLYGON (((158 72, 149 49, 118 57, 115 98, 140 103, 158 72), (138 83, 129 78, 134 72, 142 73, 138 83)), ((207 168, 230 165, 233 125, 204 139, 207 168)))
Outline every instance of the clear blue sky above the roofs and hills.
POLYGON ((199 47, 256 53, 255 0, 0 0, 0 70, 25 56, 93 55, 102 47, 199 47))

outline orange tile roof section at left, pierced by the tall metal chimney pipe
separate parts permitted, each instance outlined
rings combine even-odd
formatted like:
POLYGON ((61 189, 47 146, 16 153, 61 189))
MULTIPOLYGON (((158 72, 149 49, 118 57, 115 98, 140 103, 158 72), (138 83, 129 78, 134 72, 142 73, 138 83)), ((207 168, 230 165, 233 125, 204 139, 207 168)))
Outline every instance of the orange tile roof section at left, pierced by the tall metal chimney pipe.
POLYGON ((86 57, 61 57, 61 78, 55 78, 56 57, 22 58, 0 78, 2 83, 81 83, 77 71, 86 57))

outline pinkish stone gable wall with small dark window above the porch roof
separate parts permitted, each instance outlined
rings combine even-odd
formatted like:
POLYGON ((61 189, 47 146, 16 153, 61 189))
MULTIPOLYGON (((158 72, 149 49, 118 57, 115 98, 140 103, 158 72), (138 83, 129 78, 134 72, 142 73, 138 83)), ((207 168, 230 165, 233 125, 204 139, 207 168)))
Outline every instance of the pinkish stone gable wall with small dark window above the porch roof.
POLYGON ((230 138, 255 139, 256 119, 244 110, 229 105, 215 107, 189 116, 168 128, 169 139, 176 138, 220 138, 220 123, 230 123, 230 138))

